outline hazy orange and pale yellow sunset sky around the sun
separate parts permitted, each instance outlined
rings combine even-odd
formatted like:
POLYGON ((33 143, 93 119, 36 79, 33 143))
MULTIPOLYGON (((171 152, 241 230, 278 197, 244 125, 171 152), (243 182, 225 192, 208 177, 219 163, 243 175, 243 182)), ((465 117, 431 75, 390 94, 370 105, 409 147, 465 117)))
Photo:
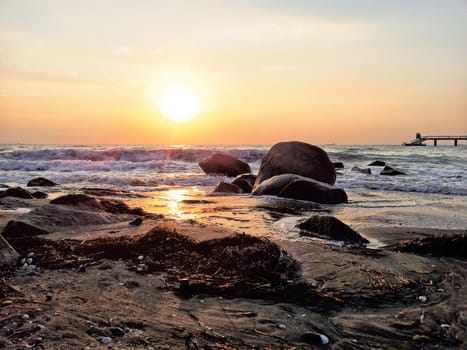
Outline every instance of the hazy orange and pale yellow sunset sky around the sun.
POLYGON ((3 0, 0 143, 466 135, 466 58, 461 0, 3 0), (201 103, 185 124, 157 109, 174 84, 201 103))

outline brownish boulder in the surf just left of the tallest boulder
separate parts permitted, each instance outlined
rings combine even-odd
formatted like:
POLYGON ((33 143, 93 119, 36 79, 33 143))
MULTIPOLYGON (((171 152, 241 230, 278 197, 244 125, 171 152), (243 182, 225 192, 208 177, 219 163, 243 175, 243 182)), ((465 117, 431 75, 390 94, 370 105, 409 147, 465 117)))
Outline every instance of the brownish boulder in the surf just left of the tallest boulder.
POLYGON ((206 174, 221 174, 230 177, 251 172, 247 163, 223 153, 214 153, 208 159, 199 162, 199 166, 206 174))

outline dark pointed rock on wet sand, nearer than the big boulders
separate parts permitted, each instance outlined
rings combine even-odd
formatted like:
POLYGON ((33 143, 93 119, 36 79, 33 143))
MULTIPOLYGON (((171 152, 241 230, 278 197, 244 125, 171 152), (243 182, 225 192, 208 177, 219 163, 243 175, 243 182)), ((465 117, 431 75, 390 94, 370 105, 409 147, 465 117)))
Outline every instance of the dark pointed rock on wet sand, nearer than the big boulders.
POLYGON ((329 215, 314 215, 302 222, 297 227, 303 236, 318 237, 334 241, 344 241, 351 244, 366 244, 367 239, 352 230, 339 219, 329 215))

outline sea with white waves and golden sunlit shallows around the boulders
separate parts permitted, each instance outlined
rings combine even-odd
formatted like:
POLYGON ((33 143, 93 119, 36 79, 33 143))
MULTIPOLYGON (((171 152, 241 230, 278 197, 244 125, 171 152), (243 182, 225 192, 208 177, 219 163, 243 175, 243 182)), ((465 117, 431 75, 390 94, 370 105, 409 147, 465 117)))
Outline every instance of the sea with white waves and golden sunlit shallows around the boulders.
POLYGON ((247 162, 257 173, 270 147, 0 145, 0 184, 24 187, 35 177, 45 177, 60 184, 41 188, 51 199, 83 188, 113 189, 128 204, 167 218, 285 239, 297 238, 297 222, 317 211, 328 212, 356 230, 467 229, 465 144, 320 145, 331 161, 344 164, 337 170, 335 185, 347 192, 349 203, 319 209, 310 202, 272 196, 213 194, 217 183, 232 179, 207 175, 198 165, 220 152, 247 162), (407 175, 380 175, 381 167, 368 166, 375 160, 407 175), (370 168, 371 174, 352 171, 353 167, 370 168))

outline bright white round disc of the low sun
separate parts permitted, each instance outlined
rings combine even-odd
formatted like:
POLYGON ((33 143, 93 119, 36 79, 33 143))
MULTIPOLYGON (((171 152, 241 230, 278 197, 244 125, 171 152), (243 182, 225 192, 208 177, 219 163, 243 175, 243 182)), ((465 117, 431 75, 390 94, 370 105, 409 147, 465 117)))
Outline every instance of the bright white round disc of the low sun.
POLYGON ((192 90, 177 86, 165 91, 159 107, 167 119, 176 123, 185 123, 196 117, 201 106, 192 90))

